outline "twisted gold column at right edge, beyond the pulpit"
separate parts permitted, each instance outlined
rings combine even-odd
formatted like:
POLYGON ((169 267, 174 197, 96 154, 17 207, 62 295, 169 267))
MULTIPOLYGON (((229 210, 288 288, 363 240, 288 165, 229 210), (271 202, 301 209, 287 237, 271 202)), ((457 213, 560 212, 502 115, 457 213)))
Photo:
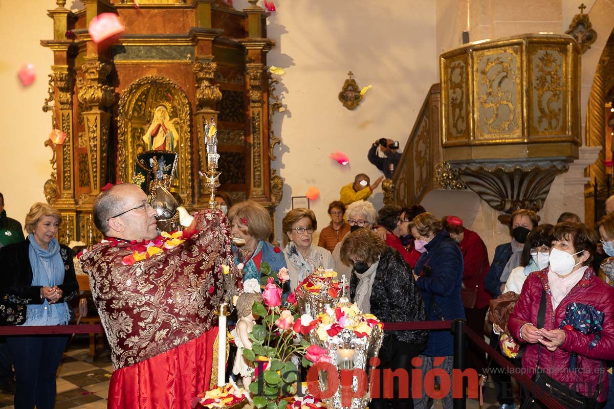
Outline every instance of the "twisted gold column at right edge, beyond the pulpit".
POLYGON ((589 166, 589 177, 591 182, 597 178, 597 183, 605 186, 605 90, 603 61, 597 64, 597 71, 593 78, 591 94, 588 97, 588 107, 586 112, 586 145, 590 147, 602 147, 597 161, 589 166))

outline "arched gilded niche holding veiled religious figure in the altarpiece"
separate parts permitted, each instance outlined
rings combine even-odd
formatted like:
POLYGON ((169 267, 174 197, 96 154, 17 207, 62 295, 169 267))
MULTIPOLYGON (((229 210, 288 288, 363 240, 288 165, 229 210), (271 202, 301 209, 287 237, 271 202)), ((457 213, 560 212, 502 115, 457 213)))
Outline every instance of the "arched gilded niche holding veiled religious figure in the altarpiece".
POLYGON ((192 202, 190 104, 184 91, 168 78, 140 78, 123 91, 118 115, 119 175, 133 176, 136 156, 146 151, 179 155, 171 191, 192 202))

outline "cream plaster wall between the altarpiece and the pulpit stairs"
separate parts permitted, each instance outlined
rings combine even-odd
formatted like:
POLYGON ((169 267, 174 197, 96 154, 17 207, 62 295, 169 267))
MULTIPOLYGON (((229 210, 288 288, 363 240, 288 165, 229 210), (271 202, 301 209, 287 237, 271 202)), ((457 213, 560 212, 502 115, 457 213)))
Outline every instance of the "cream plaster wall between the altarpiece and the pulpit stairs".
MULTIPOLYGON (((246 1, 235 1, 241 9, 246 1)), ((317 186, 311 204, 319 228, 328 224, 328 203, 341 186, 366 173, 381 175, 367 161, 371 143, 380 137, 399 140, 401 149, 427 91, 438 82, 435 2, 432 1, 277 1, 268 20, 275 40, 268 64, 286 69, 281 78, 287 111, 276 115, 274 130, 282 153, 274 165, 284 178, 284 197, 276 212, 277 239, 290 197, 317 186), (349 111, 338 93, 354 72, 359 86, 373 85, 359 107, 349 111), (328 154, 350 158, 340 166, 328 154)), ((381 188, 371 196, 382 205, 381 188)), ((314 237, 317 239, 317 237, 314 237)))

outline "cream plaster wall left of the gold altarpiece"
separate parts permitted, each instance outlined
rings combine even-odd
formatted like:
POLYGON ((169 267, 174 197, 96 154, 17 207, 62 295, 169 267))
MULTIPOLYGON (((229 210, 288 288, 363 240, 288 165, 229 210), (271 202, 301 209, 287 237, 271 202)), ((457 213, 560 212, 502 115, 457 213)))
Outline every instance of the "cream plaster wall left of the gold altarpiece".
POLYGON ((34 202, 45 201, 42 188, 51 172, 52 151, 43 145, 52 129, 51 113, 41 107, 53 56, 40 40, 53 38, 46 10, 55 7, 53 0, 0 2, 0 192, 7 214, 21 224, 34 202), (17 78, 23 63, 34 64, 37 71, 36 82, 27 88, 17 78))

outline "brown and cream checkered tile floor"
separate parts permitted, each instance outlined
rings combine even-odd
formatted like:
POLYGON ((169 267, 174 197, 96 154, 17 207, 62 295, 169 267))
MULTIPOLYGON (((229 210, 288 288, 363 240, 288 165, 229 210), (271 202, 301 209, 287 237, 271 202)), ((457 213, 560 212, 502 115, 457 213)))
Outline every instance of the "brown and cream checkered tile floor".
MULTIPOLYGON (((98 350, 93 362, 88 363, 88 337, 77 335, 64 352, 58 369, 55 409, 105 409, 111 378, 111 355, 98 350)), ((481 409, 498 409, 495 390, 489 381, 484 388, 484 405, 481 409)), ((0 392, 0 408, 14 408, 13 396, 0 392)), ((435 408, 442 408, 435 401, 435 408)), ((476 399, 467 399, 467 409, 479 409, 476 399)), ((173 408, 176 409, 176 408, 173 408)))

